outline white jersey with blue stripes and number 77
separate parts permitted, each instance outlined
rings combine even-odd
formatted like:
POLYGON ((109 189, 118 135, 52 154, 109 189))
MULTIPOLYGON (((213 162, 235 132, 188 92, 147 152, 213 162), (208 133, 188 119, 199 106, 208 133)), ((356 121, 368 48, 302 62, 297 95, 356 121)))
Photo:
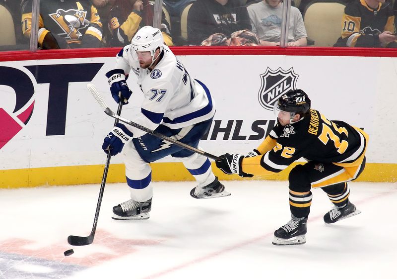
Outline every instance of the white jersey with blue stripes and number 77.
MULTIPOLYGON (((130 79, 136 78, 144 100, 140 115, 132 121, 155 130, 163 124, 179 129, 210 119, 215 114, 215 103, 201 82, 191 79, 185 67, 164 45, 163 55, 156 67, 141 69, 131 55, 131 45, 117 54, 117 69, 124 70, 130 79), (133 73, 133 74, 132 74, 133 73)), ((127 126, 137 138, 144 131, 127 126)))

